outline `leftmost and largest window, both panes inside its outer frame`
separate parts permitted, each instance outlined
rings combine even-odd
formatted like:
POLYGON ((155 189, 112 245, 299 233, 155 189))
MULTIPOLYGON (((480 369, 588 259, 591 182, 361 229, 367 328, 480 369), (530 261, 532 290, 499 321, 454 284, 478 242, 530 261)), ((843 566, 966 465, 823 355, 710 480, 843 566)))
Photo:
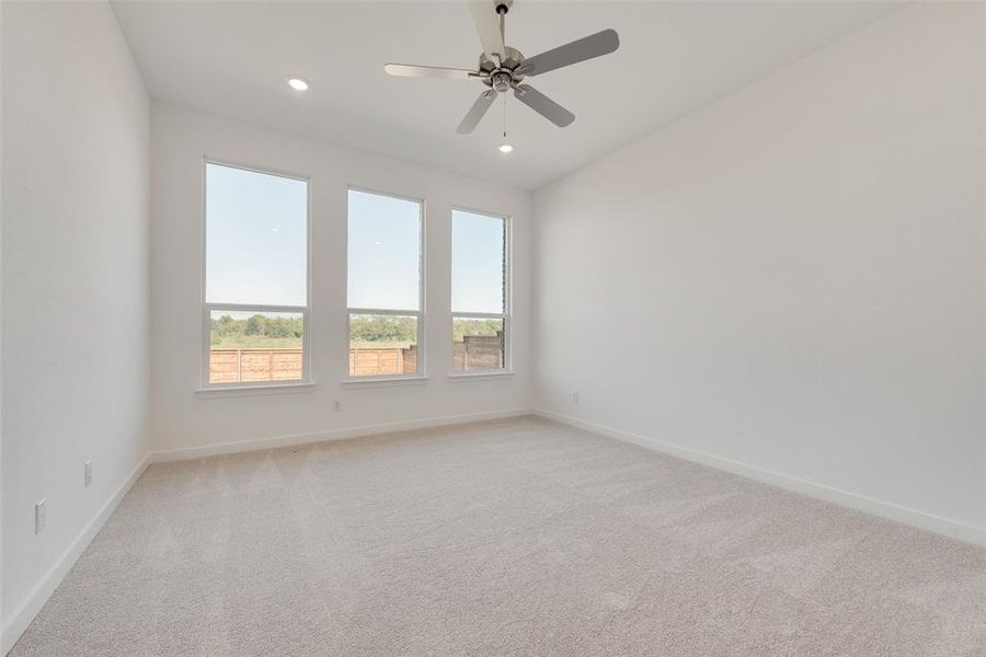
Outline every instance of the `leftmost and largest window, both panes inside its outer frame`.
POLYGON ((205 385, 308 380, 308 182, 206 162, 205 189, 205 385))

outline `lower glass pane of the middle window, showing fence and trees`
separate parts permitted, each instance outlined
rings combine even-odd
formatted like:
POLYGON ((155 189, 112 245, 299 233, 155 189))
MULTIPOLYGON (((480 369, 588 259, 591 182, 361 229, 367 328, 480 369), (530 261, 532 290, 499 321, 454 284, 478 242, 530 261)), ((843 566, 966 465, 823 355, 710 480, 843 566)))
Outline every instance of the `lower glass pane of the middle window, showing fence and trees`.
POLYGON ((417 318, 349 315, 349 376, 417 372, 417 318))

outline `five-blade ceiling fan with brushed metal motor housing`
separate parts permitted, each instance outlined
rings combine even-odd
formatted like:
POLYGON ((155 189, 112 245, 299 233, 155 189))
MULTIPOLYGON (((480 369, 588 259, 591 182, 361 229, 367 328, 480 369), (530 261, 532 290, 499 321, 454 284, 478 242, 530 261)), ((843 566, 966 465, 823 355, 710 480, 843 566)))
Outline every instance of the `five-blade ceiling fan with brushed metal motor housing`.
POLYGON ((438 68, 433 66, 411 66, 388 64, 383 67, 391 76, 406 78, 446 78, 449 80, 479 80, 490 89, 485 90, 466 113, 466 118, 456 130, 460 135, 472 132, 480 119, 496 100, 498 93, 514 92, 514 96, 563 128, 575 120, 575 115, 524 82, 548 71, 578 64, 586 59, 608 55, 620 46, 620 37, 615 30, 604 30, 572 43, 559 46, 540 55, 525 58, 516 48, 507 46, 504 21, 514 0, 471 0, 469 9, 479 33, 483 51, 479 58, 479 69, 438 68))

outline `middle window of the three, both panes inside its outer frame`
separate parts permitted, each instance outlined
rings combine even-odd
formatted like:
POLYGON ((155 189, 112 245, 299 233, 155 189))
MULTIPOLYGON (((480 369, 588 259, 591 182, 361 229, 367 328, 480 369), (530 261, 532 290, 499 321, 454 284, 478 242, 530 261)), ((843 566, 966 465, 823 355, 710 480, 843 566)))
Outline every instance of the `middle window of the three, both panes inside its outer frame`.
POLYGON ((422 203, 349 189, 349 377, 420 377, 422 203))

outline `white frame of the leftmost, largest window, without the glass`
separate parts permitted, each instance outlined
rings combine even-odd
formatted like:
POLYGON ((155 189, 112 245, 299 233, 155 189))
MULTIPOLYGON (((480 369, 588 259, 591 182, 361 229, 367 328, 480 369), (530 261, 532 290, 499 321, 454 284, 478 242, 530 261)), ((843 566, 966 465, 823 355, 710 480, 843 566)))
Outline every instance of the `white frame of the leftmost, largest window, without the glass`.
POLYGON ((199 391, 249 391, 257 389, 272 388, 299 388, 311 387, 313 384, 311 376, 311 177, 296 173, 278 171, 276 169, 253 166, 250 164, 241 164, 230 162, 229 160, 220 160, 217 158, 204 157, 202 159, 202 372, 199 391), (208 204, 208 175, 207 169, 209 164, 218 166, 228 166, 230 169, 239 169, 252 173, 261 173, 264 175, 275 175, 279 177, 290 178, 305 183, 305 306, 270 306, 270 304, 250 304, 250 303, 209 303, 207 297, 208 286, 208 217, 206 208, 208 204), (233 312, 290 312, 301 314, 301 378, 289 379, 286 381, 239 381, 236 383, 222 382, 211 383, 209 381, 209 331, 211 328, 213 311, 233 311, 233 312))

